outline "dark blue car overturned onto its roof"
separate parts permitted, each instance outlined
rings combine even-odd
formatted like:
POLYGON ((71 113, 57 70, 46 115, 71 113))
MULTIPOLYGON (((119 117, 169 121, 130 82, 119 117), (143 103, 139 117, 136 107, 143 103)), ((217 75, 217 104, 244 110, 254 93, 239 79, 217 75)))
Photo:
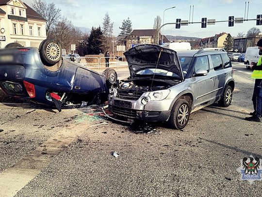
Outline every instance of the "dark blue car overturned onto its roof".
POLYGON ((114 69, 103 74, 61 58, 61 47, 53 39, 39 49, 19 44, 0 49, 0 88, 9 96, 56 106, 79 106, 107 100, 117 80, 114 69))

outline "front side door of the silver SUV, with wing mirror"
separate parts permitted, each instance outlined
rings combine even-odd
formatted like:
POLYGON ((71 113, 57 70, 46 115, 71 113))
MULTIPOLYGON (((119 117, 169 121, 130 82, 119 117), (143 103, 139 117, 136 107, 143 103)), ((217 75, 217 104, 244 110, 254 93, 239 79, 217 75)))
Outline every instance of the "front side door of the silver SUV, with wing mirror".
POLYGON ((210 62, 208 56, 197 57, 195 61, 195 70, 206 70, 208 73, 205 76, 192 77, 193 91, 195 94, 195 107, 207 104, 213 98, 214 76, 210 69, 210 62))

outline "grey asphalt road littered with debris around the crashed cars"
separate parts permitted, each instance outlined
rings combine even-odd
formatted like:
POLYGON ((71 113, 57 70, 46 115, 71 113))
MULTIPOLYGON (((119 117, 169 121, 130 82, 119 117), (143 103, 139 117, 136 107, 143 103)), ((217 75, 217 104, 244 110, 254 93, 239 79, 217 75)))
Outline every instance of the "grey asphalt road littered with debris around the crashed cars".
POLYGON ((244 120, 254 80, 244 63, 233 69, 232 105, 193 113, 183 131, 157 123, 139 133, 97 106, 1 108, 0 197, 260 197, 262 182, 236 170, 243 157, 262 158, 262 123, 244 120))

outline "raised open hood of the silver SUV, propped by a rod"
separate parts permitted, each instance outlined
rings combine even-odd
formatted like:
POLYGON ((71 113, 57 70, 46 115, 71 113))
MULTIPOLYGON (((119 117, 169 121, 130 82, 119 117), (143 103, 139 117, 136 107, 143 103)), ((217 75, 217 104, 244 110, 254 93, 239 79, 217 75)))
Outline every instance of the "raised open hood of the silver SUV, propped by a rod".
POLYGON ((124 53, 131 77, 141 70, 156 68, 160 52, 157 68, 175 73, 184 80, 177 52, 159 45, 138 45, 124 53))

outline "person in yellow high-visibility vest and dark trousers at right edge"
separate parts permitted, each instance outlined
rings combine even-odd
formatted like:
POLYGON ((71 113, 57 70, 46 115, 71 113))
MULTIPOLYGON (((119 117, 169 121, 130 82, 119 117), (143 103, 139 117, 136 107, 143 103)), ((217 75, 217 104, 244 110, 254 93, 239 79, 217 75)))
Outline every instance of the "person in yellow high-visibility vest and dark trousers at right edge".
MULTIPOLYGON (((258 48, 262 51, 262 39, 257 43, 258 48)), ((253 70, 251 78, 255 79, 255 87, 252 96, 254 112, 250 113, 251 117, 246 117, 246 121, 261 122, 262 119, 262 56, 259 61, 251 62, 250 69, 253 70)))

